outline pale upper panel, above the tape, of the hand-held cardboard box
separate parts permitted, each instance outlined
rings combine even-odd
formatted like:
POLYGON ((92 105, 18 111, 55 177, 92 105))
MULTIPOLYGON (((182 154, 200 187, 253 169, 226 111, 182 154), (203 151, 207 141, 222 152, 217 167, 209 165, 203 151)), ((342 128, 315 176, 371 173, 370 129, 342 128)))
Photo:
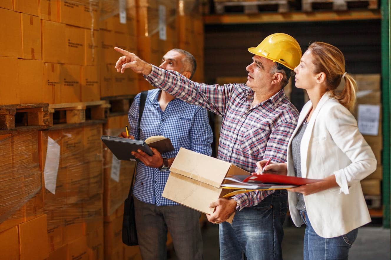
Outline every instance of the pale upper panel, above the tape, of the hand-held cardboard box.
POLYGON ((170 171, 220 187, 231 164, 185 148, 179 149, 170 171))

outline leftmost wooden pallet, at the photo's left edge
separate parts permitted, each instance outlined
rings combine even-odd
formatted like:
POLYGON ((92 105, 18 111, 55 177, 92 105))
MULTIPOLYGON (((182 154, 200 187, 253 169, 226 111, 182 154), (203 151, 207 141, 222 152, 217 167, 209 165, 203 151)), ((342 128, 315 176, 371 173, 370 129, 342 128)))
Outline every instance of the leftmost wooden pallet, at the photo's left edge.
POLYGON ((1 105, 0 131, 3 134, 49 127, 47 103, 1 105))

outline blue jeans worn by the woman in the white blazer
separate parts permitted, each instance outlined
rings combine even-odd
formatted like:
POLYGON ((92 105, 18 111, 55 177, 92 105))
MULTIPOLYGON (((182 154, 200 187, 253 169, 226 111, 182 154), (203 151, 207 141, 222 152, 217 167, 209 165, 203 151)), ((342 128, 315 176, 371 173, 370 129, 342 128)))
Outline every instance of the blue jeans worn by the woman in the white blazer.
POLYGON ((339 237, 324 238, 315 233, 306 211, 301 211, 300 215, 307 225, 304 234, 304 260, 348 259, 349 249, 359 232, 358 228, 339 237))

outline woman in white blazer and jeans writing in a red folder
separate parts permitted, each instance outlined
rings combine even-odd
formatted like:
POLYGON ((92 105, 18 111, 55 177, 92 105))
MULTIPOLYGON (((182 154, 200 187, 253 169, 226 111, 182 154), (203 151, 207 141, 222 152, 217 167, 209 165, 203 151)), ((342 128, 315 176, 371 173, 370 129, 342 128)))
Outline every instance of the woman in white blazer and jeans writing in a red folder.
POLYGON ((306 224, 304 259, 347 259, 358 227, 371 221, 360 180, 376 169, 376 159, 349 110, 355 105, 354 79, 345 72, 341 51, 314 42, 304 53, 296 87, 310 101, 301 110, 288 144, 287 162, 257 162, 258 174, 283 174, 321 179, 289 189, 294 224, 306 224), (337 93, 341 80, 344 89, 337 93))

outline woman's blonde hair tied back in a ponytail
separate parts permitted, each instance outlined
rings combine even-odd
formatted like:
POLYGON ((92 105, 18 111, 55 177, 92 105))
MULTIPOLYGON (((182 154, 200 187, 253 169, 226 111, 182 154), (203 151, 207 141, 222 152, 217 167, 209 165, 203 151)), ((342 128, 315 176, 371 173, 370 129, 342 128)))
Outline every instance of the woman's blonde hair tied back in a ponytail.
POLYGON ((311 51, 314 58, 312 62, 315 65, 314 73, 324 72, 326 74, 327 90, 341 105, 352 111, 356 104, 357 91, 354 78, 346 74, 343 90, 341 92, 336 91, 345 73, 345 58, 342 52, 337 47, 322 42, 311 43, 308 50, 311 51))

